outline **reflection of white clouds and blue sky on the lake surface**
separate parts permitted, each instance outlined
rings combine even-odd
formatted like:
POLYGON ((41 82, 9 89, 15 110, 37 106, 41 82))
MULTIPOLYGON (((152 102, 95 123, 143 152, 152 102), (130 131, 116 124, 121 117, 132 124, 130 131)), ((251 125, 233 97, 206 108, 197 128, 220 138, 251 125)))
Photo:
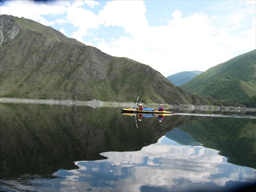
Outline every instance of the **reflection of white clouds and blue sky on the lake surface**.
POLYGON ((230 190, 227 183, 256 180, 255 169, 227 163, 218 151, 180 145, 168 137, 140 151, 104 152, 105 160, 77 161, 79 169, 59 170, 63 190, 196 191, 230 190), (71 188, 70 188, 71 187, 71 188))

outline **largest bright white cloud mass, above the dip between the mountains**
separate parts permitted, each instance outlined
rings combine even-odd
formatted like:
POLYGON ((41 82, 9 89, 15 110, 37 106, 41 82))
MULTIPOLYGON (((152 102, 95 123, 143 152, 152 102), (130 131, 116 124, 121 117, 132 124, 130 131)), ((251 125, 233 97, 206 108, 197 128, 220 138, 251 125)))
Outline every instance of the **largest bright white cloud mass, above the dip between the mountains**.
MULTIPOLYGON (((122 10, 120 7, 115 7, 115 9, 122 10)), ((142 7, 139 12, 145 13, 142 7)), ((225 18, 226 22, 236 24, 236 29, 241 26, 241 21, 245 17, 237 13, 225 18)), ((143 20, 145 15, 137 14, 136 17, 137 20, 143 20)), ((125 55, 141 63, 149 64, 164 76, 183 70, 207 70, 233 58, 238 51, 244 53, 242 51, 255 49, 255 41, 253 41, 255 38, 251 36, 232 37, 228 30, 219 29, 215 25, 216 21, 220 21, 218 16, 193 14, 189 17, 182 17, 182 12, 176 10, 172 13, 172 17, 174 19, 170 20, 168 26, 149 27, 145 24, 147 22, 141 22, 142 26, 139 30, 143 35, 137 35, 136 32, 130 30, 132 27, 125 26, 125 22, 122 23, 120 18, 117 20, 111 18, 108 25, 124 26, 126 32, 133 37, 122 37, 110 44, 101 42, 97 46, 111 55, 125 55)), ((122 19, 125 20, 125 18, 122 19)), ((255 30, 250 32, 255 36, 255 30)))

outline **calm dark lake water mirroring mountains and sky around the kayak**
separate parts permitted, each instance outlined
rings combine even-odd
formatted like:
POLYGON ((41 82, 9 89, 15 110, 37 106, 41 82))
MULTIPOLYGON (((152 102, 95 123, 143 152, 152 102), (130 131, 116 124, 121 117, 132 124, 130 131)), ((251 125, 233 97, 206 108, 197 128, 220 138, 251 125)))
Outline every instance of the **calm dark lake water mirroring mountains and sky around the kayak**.
POLYGON ((255 113, 158 118, 0 103, 0 190, 230 192, 256 183, 255 113))

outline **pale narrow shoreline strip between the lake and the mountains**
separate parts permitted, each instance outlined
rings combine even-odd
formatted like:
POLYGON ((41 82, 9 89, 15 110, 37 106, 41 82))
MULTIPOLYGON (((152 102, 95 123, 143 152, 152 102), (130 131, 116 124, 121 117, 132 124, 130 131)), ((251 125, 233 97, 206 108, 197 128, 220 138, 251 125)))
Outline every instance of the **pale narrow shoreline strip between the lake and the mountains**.
MULTIPOLYGON (((105 102, 98 99, 90 101, 76 101, 76 100, 60 100, 60 99, 25 99, 25 98, 0 98, 2 103, 31 103, 31 104, 47 104, 47 105, 84 105, 91 108, 101 107, 122 107, 122 108, 134 108, 135 102, 105 102)), ((159 104, 156 103, 144 103, 144 108, 156 108, 159 104)), ((214 106, 214 105, 169 105, 165 104, 166 109, 179 109, 179 110, 197 110, 197 111, 256 111, 256 108, 246 107, 232 107, 232 106, 214 106)))

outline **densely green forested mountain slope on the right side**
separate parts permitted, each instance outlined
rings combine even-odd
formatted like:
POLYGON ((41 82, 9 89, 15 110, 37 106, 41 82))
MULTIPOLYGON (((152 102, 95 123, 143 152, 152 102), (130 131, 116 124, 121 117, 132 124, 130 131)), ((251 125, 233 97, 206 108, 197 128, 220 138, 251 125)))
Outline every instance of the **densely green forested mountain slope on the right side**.
POLYGON ((201 96, 256 107, 256 50, 201 73, 180 87, 201 96))

